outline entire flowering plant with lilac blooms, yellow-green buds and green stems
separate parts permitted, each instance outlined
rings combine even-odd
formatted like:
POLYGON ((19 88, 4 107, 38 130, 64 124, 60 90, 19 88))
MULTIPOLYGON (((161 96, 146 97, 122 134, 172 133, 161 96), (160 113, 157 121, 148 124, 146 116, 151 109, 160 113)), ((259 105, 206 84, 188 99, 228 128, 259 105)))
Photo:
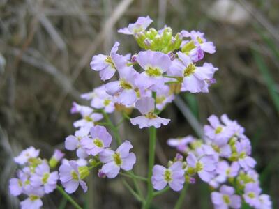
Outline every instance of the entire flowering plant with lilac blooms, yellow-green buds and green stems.
POLYGON ((77 130, 66 137, 65 148, 75 150, 77 160, 66 160, 60 150, 55 150, 50 160, 41 159, 40 150, 33 147, 15 157, 20 169, 17 178, 10 179, 10 193, 27 196, 20 203, 22 208, 40 208, 43 206, 41 198, 54 189, 75 208, 81 208, 69 194, 79 186, 87 191, 86 178, 93 169, 97 169, 99 178, 119 175, 131 178, 133 186, 126 180, 123 183, 142 203, 142 208, 150 208, 153 198, 169 189, 180 192, 174 206, 180 208, 188 185, 195 184, 197 178, 214 189, 211 193, 214 208, 241 208, 243 204, 271 208, 269 196, 261 194, 254 169, 256 161, 250 156, 250 140, 244 128, 226 114, 220 119, 209 116, 209 125, 204 125, 202 137, 169 139, 167 144, 176 148, 176 156, 167 165, 155 164, 156 129, 171 121, 161 118, 161 111, 180 92, 209 92, 209 87, 216 82, 213 75, 218 68, 211 63, 198 64, 205 53, 216 52, 213 42, 206 40, 204 33, 183 30, 173 36, 168 26, 159 31, 147 30, 151 22, 148 16, 139 17, 137 22, 119 29, 119 33, 135 38, 142 48, 137 54, 118 54, 120 44, 115 42, 110 55, 93 56, 91 68, 98 71, 100 79, 106 83, 81 95, 90 106, 74 102, 70 110, 80 114, 81 119, 73 123, 77 130), (139 116, 131 118, 132 109, 137 109, 139 116), (141 129, 149 128, 146 177, 133 172, 137 161, 131 151, 133 145, 121 139, 119 124, 110 121, 109 114, 114 111, 121 111, 123 115, 119 123, 127 119, 141 129), (113 142, 118 146, 116 149, 113 142), (139 182, 146 183, 146 194, 139 182))

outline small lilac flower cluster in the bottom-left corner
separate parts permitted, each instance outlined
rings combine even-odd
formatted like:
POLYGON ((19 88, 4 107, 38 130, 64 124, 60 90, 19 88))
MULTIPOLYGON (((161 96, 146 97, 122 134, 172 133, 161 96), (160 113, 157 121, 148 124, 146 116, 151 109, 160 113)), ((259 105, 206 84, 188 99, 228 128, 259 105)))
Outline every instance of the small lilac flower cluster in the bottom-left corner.
POLYGON ((22 209, 40 208, 43 206, 41 198, 56 189, 59 175, 57 171, 50 171, 63 158, 60 150, 55 150, 49 161, 39 157, 40 150, 33 146, 23 150, 15 157, 15 162, 21 169, 17 171, 17 178, 10 179, 10 194, 27 197, 20 203, 22 209))

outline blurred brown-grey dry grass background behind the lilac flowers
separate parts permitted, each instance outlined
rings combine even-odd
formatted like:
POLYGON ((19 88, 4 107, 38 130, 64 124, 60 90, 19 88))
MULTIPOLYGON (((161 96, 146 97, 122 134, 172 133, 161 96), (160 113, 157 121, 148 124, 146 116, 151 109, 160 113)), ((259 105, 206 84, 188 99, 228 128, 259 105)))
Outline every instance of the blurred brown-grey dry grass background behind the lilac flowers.
MULTIPOLYGON (((28 146, 40 148, 43 157, 63 150, 78 118, 70 115, 72 102, 102 84, 91 57, 109 53, 116 40, 121 54, 137 52, 133 37, 116 31, 145 15, 156 29, 167 24, 174 33, 204 31, 217 49, 204 60, 219 68, 210 93, 181 94, 163 112, 172 122, 158 131, 156 162, 166 165, 174 157, 169 137, 197 136, 208 116, 227 113, 246 127, 262 188, 279 208, 278 0, 0 0, 0 208, 18 208, 8 192, 13 157, 28 146)), ((135 173, 145 176, 148 132, 126 122, 121 136, 134 145, 135 173)), ((70 152, 67 157, 75 159, 70 152)), ((80 189, 74 194, 84 208, 140 208, 121 177, 93 175, 88 184, 85 196, 80 189)), ((190 185, 184 208, 212 208, 209 194, 203 183, 190 185)), ((167 192, 154 208, 172 208, 177 197, 167 192)), ((56 192, 43 201, 44 208, 71 207, 56 192)))

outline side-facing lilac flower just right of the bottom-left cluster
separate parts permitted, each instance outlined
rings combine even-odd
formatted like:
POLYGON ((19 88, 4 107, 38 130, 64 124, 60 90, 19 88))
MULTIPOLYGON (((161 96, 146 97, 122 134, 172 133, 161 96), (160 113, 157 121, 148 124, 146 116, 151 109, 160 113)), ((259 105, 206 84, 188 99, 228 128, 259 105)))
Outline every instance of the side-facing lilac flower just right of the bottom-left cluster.
POLYGON ((59 176, 65 191, 69 194, 75 192, 79 185, 84 192, 87 191, 86 183, 81 179, 77 162, 74 160, 70 160, 68 164, 61 164, 59 167, 59 176))

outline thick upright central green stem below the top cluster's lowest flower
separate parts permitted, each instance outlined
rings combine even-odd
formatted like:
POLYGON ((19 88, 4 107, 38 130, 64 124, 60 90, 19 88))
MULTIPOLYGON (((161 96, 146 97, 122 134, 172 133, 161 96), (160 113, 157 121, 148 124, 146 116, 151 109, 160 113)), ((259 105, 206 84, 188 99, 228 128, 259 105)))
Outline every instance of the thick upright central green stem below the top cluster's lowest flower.
POLYGON ((153 186, 151 183, 152 169, 155 162, 155 146, 156 146, 156 128, 154 126, 149 127, 149 172, 147 177, 147 196, 144 204, 144 209, 150 207, 153 199, 153 186))

